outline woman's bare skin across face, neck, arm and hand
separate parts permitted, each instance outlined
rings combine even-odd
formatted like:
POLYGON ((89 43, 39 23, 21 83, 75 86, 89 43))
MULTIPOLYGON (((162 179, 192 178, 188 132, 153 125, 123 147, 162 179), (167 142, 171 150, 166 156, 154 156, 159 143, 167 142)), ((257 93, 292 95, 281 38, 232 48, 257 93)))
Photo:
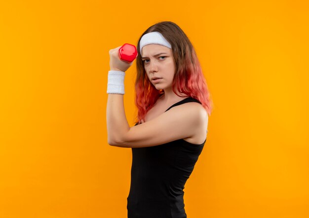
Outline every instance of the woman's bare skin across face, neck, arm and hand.
MULTIPOLYGON (((110 50, 110 68, 125 72, 132 64, 119 59, 118 49, 110 50)), ((164 95, 157 100, 152 115, 146 122, 130 127, 124 111, 123 95, 109 94, 106 109, 108 144, 118 147, 146 147, 161 145, 178 139, 192 144, 202 144, 206 139, 208 115, 198 103, 190 102, 168 109, 171 105, 187 96, 179 97, 172 90, 175 64, 172 50, 158 44, 143 47, 142 54, 145 71, 151 80, 154 76, 161 79, 154 84, 163 89, 164 95), (159 53, 165 53, 155 56, 159 53), (154 112, 154 110, 158 112, 154 112)))

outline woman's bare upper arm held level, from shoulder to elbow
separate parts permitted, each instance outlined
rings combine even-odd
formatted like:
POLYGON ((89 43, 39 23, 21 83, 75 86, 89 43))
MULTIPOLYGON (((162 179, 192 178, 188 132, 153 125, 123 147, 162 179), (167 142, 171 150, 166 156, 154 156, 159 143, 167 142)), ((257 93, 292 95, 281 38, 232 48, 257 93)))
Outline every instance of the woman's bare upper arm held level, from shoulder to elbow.
POLYGON ((116 146, 155 146, 191 137, 204 124, 205 113, 195 102, 173 107, 150 121, 131 127, 116 146))

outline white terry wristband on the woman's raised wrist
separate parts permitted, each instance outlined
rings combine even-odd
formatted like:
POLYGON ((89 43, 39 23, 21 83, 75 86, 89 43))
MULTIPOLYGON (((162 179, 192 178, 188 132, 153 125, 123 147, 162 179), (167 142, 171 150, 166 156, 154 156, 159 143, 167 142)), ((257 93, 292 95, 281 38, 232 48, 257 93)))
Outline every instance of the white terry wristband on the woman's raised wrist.
POLYGON ((124 75, 123 71, 109 71, 107 78, 107 93, 124 95, 124 75))

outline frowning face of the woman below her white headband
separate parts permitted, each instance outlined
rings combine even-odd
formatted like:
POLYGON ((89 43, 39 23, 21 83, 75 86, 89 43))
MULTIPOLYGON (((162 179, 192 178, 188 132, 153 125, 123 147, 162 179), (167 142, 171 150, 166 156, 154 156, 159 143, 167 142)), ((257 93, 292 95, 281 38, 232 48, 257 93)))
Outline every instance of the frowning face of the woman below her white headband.
POLYGON ((171 88, 175 74, 172 49, 164 45, 149 44, 143 47, 141 56, 145 71, 154 87, 157 90, 171 88))

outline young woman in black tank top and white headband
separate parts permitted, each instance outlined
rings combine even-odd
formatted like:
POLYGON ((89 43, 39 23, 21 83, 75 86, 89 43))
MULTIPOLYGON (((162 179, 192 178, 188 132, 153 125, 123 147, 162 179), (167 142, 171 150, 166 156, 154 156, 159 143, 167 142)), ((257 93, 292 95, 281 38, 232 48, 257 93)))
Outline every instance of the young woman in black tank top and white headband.
POLYGON ((135 126, 123 106, 132 65, 110 50, 109 145, 132 148, 128 218, 187 218, 184 185, 207 137, 212 101, 193 45, 173 22, 149 27, 137 43, 135 126))

